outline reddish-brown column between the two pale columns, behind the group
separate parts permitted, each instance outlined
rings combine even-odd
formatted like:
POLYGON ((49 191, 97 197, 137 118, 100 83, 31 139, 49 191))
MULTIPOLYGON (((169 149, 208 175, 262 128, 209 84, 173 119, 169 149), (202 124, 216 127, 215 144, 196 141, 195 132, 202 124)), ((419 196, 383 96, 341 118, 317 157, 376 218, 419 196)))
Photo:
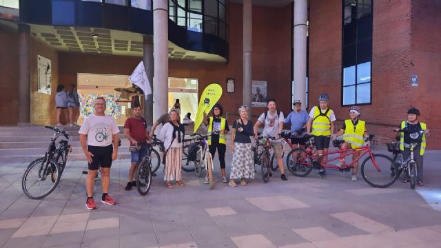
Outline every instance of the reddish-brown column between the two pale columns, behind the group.
POLYGON ((248 106, 252 118, 252 52, 253 52, 252 0, 243 0, 243 104, 248 106))

